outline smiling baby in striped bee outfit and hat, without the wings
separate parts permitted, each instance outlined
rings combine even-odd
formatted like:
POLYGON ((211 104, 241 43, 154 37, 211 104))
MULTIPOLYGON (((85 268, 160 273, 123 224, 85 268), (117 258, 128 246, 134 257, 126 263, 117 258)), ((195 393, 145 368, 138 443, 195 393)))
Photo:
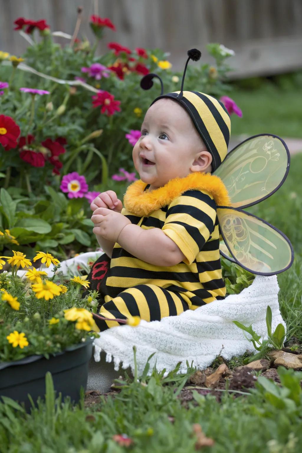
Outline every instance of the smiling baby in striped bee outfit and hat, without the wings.
MULTIPOLYGON (((230 118, 211 96, 181 91, 153 101, 132 153, 140 180, 127 189, 125 207, 110 190, 91 203, 107 255, 90 275, 100 315, 154 321, 225 298, 216 202, 228 204, 228 195, 211 172, 229 137, 230 118)), ((101 331, 119 325, 96 323, 101 331)))

